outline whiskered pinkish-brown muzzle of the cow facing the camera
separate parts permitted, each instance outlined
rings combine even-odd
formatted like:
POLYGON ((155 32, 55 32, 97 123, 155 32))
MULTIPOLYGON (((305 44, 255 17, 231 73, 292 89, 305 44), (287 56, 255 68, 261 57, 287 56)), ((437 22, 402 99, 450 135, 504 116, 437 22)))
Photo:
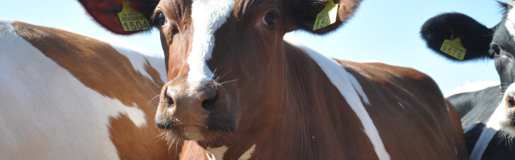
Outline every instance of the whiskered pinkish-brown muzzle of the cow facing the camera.
POLYGON ((157 127, 183 140, 206 140, 235 130, 225 88, 214 80, 191 85, 186 77, 164 85, 156 113, 157 127))

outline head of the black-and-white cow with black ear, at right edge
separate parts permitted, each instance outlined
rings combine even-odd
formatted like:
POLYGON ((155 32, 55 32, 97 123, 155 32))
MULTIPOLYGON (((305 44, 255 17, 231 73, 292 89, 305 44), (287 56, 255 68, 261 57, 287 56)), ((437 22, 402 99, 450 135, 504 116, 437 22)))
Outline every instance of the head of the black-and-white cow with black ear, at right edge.
POLYGON ((504 92, 515 82, 515 11, 513 2, 500 4, 504 18, 492 28, 461 13, 444 13, 427 20, 420 32, 430 49, 453 61, 460 60, 441 50, 445 39, 460 39, 467 49, 463 61, 494 59, 504 92))

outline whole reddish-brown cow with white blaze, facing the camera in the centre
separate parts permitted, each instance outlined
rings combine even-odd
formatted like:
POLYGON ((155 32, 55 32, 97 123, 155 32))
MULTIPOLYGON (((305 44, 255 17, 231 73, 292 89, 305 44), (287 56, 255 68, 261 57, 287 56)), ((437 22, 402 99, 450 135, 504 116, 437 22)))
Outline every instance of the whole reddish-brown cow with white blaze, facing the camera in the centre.
MULTIPOLYGON (((108 30, 135 32, 118 18, 128 1, 80 2, 108 30)), ((336 3, 336 22, 313 31, 325 0, 130 1, 161 33, 170 81, 156 123, 186 140, 181 157, 467 159, 458 115, 427 75, 285 38, 336 30, 361 1, 336 3)))

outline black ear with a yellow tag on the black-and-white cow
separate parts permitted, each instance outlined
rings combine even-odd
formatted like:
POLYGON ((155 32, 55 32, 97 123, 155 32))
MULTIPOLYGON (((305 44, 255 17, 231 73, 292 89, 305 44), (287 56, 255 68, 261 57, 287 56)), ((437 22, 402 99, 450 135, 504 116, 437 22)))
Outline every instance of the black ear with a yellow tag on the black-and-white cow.
POLYGON ((444 13, 422 25, 427 47, 453 61, 492 58, 489 45, 493 30, 461 13, 444 13), (466 50, 463 50, 466 49, 466 50), (463 50, 460 51, 459 50, 463 50), (456 54, 458 51, 458 54, 456 54))

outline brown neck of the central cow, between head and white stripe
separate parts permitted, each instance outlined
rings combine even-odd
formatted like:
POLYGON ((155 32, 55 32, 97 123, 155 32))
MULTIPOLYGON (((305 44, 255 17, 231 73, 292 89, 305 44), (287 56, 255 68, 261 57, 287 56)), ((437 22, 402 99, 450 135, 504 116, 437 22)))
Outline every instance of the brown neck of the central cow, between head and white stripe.
POLYGON ((297 153, 277 159, 376 159, 375 154, 358 154, 373 153, 373 145, 358 116, 319 65, 298 47, 287 42, 283 45, 283 104, 272 113, 278 118, 272 123, 272 140, 264 142, 268 149, 258 143, 256 152, 265 150, 276 156, 297 153), (335 130, 339 135, 334 135, 335 130), (356 141, 360 143, 353 147, 342 143, 356 141), (334 148, 346 150, 321 154, 334 148))

